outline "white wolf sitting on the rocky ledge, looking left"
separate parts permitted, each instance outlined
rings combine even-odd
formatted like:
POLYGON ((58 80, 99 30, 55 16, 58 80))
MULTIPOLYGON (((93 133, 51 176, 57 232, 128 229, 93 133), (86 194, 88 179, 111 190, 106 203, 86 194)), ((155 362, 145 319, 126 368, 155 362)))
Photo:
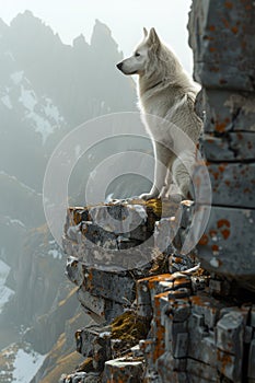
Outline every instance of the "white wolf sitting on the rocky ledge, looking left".
POLYGON ((155 30, 143 32, 134 55, 117 63, 123 73, 139 76, 139 106, 154 150, 153 186, 140 197, 167 198, 176 190, 175 185, 186 198, 201 131, 201 120, 194 111, 198 89, 155 30))

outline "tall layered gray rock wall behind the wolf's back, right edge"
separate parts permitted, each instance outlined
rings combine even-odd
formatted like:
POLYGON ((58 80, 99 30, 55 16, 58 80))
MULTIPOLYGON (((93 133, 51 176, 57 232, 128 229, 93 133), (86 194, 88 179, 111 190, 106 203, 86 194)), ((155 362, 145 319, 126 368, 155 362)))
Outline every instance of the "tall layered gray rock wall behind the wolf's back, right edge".
POLYGON ((255 289, 254 16, 253 1, 196 0, 188 25, 195 79, 202 84, 202 146, 213 205, 199 258, 207 269, 251 289, 255 289))

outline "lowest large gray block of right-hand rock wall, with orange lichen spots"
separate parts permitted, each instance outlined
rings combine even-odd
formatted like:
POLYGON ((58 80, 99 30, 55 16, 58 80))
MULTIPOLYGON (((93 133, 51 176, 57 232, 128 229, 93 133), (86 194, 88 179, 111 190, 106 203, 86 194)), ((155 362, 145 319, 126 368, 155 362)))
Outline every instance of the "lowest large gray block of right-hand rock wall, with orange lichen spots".
POLYGON ((212 207, 207 229, 198 243, 201 266, 241 282, 246 278, 254 280, 254 222, 255 210, 212 207))

